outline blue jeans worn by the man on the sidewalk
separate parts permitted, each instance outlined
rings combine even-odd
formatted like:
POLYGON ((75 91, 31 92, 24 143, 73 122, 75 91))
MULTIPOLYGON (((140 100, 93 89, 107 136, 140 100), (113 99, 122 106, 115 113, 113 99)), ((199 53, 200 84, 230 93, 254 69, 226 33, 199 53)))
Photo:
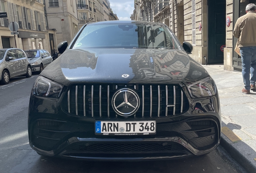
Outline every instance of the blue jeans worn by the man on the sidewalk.
POLYGON ((251 88, 250 84, 255 84, 256 81, 256 46, 241 47, 240 54, 242 58, 244 88, 249 91, 251 88))

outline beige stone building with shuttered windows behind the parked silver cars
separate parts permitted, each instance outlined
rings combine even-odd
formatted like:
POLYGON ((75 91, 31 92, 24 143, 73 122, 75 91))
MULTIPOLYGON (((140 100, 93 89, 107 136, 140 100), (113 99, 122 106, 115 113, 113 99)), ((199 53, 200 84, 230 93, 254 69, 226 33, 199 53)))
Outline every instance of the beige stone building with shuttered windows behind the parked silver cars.
POLYGON ((55 31, 49 30, 45 21, 43 0, 1 0, 0 12, 7 16, 0 18, 0 48, 16 47, 23 50, 45 49, 51 52, 50 37, 56 41, 55 31), (19 34, 11 34, 10 22, 17 22, 19 34), (16 45, 15 45, 16 40, 16 45))

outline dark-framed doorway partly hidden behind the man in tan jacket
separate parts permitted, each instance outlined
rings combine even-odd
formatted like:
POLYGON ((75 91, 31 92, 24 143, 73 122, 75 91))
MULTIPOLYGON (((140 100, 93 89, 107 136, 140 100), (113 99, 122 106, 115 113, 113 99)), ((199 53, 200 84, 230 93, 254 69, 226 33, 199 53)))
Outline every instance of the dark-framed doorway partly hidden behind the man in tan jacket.
MULTIPOLYGON (((256 4, 256 0, 247 0, 246 2, 241 2, 240 0, 233 0, 233 30, 235 26, 235 22, 241 16, 246 14, 246 6, 250 3, 256 4)), ((235 51, 235 45, 237 43, 237 38, 233 36, 233 59, 232 66, 234 70, 241 71, 242 70, 242 59, 235 51)))

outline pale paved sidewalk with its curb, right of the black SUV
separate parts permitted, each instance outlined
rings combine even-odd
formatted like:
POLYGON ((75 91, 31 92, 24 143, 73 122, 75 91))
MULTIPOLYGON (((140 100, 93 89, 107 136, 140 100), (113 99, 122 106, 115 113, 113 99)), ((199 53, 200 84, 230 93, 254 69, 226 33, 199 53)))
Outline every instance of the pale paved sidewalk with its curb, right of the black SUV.
POLYGON ((213 77, 219 91, 221 145, 248 173, 256 173, 256 92, 242 93, 241 72, 223 70, 223 65, 202 66, 213 77))

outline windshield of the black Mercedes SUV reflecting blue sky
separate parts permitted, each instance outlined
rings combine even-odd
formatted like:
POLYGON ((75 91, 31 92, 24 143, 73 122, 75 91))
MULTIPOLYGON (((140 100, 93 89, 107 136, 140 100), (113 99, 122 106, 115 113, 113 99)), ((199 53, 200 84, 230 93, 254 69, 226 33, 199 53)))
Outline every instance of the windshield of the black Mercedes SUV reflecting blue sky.
POLYGON ((180 49, 173 34, 158 24, 92 24, 72 46, 85 48, 180 49))

